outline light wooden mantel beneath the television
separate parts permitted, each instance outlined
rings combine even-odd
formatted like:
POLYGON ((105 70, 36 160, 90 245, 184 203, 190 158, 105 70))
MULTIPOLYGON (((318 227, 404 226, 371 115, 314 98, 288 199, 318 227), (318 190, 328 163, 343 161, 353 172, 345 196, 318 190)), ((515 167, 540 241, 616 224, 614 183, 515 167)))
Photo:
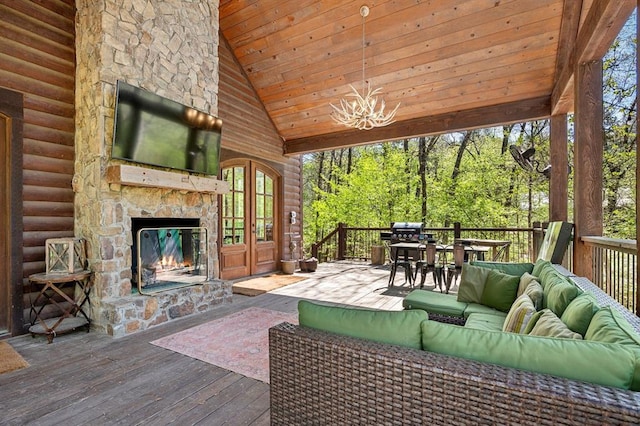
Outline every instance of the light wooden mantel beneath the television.
POLYGON ((227 182, 214 177, 194 176, 163 170, 114 164, 107 167, 107 182, 110 184, 167 188, 187 192, 229 192, 227 182))

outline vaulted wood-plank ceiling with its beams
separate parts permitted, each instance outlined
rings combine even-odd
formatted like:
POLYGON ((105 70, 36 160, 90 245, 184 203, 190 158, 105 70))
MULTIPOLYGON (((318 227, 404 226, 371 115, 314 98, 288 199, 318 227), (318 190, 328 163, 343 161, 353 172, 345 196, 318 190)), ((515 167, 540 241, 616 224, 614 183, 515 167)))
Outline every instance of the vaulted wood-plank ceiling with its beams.
POLYGON ((220 0, 220 29, 285 153, 547 117, 573 108, 572 70, 599 59, 635 0, 220 0), (396 122, 330 117, 366 80, 396 122))

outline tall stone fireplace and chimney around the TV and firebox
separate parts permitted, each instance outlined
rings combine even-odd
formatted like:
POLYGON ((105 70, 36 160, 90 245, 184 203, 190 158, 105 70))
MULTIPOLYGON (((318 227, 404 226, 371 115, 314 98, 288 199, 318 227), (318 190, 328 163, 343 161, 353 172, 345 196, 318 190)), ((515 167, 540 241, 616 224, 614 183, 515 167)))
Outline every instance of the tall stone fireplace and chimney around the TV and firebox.
POLYGON ((76 6, 75 234, 87 240, 94 272, 94 328, 123 336, 230 302, 230 283, 217 279, 224 185, 144 167, 133 170, 153 179, 131 182, 121 176, 130 165, 111 158, 118 79, 217 115, 218 2, 78 0, 76 6), (185 185, 197 179, 206 185, 185 185), (205 227, 207 280, 153 295, 133 292, 136 218, 191 219, 205 227))

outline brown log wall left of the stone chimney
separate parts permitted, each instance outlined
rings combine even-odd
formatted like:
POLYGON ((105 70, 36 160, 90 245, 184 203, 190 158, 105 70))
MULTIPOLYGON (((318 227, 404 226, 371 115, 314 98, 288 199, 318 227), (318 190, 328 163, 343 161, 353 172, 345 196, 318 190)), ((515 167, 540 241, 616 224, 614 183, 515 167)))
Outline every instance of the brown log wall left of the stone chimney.
POLYGON ((0 0, 0 16, 0 86, 24 96, 26 284, 45 270, 45 240, 73 235, 75 2, 0 0))

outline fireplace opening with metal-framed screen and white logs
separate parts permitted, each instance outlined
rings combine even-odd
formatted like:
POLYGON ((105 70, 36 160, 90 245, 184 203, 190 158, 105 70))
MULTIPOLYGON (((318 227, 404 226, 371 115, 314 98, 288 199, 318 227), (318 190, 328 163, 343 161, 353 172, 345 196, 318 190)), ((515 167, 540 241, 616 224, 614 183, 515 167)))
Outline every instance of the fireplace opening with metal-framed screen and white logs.
POLYGON ((133 218, 132 232, 133 293, 158 293, 207 281, 207 230, 199 219, 133 218))

